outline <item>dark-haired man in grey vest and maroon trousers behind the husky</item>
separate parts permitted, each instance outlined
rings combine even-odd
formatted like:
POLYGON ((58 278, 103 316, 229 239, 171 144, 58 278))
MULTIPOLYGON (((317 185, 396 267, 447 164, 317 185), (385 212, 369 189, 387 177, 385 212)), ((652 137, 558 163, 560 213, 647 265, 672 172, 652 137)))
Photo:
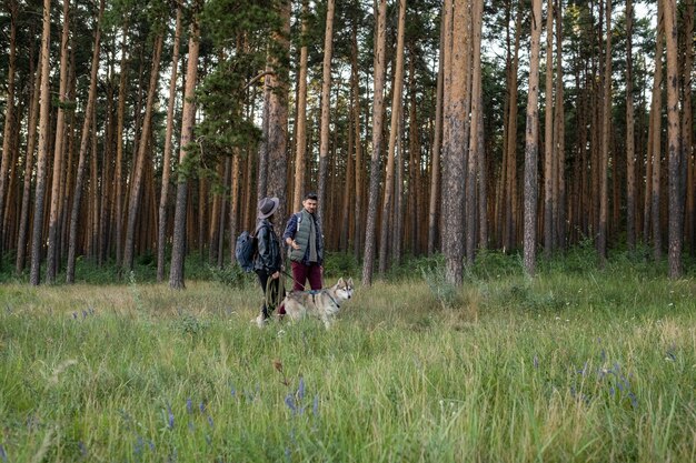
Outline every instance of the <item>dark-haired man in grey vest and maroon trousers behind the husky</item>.
POLYGON ((316 212, 317 194, 307 193, 302 200, 302 210, 290 217, 282 234, 290 251, 295 280, 292 291, 305 291, 307 280, 312 290, 321 289, 324 235, 316 212))

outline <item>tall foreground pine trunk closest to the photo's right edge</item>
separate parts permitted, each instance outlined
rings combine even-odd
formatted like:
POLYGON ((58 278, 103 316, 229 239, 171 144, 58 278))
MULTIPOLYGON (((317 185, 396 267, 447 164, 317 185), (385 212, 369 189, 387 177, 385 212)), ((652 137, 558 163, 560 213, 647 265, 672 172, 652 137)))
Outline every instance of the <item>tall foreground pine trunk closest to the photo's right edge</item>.
MULTIPOLYGON (((664 0, 665 41, 667 44, 667 141, 669 153, 669 278, 682 276, 682 124, 679 121, 679 66, 677 63, 676 0, 664 0)), ((693 46, 689 42, 689 46, 693 46)))

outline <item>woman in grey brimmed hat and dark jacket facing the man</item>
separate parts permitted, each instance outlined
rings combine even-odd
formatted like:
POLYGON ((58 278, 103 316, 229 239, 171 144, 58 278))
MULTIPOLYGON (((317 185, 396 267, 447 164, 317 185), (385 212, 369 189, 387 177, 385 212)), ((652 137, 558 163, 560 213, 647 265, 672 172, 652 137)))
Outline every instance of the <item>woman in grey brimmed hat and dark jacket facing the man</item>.
POLYGON ((264 198, 259 201, 259 211, 256 221, 257 253, 253 259, 253 271, 259 275, 259 282, 264 290, 264 305, 256 322, 264 326, 270 313, 276 309, 267 304, 266 292, 278 294, 280 286, 280 240, 274 230, 274 213, 278 210, 278 198, 264 198), (269 282, 270 279, 270 282, 269 282), (270 283, 270 284, 269 284, 270 283))

